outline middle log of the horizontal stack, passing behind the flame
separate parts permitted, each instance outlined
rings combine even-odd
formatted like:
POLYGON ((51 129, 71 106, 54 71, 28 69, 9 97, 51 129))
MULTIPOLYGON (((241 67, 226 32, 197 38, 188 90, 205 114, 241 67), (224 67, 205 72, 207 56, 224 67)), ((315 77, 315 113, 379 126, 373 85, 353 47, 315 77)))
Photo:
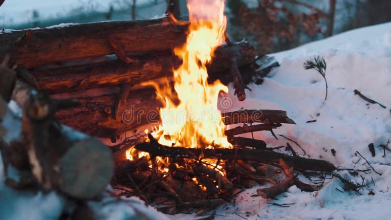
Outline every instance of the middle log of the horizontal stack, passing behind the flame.
MULTIPOLYGON (((248 42, 220 46, 218 54, 229 53, 232 48, 239 50, 238 66, 247 66, 255 61, 256 50, 248 42)), ((173 68, 181 64, 171 52, 133 54, 132 58, 137 62, 129 65, 119 60, 108 60, 79 66, 35 69, 31 71, 31 75, 38 89, 46 90, 48 93, 60 93, 123 83, 137 85, 153 79, 171 77, 173 68)), ((228 68, 229 61, 224 59, 223 55, 217 55, 208 66, 209 75, 211 79, 221 78, 227 83, 228 78, 228 82, 232 82, 232 77, 226 74, 228 68)), ((255 74, 255 71, 253 73, 255 74)))

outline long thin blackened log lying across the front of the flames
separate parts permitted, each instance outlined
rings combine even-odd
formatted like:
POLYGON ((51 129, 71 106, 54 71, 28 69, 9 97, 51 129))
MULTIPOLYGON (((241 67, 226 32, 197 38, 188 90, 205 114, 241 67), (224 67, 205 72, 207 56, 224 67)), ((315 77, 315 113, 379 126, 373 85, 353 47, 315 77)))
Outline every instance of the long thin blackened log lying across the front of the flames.
POLYGON ((150 153, 152 156, 166 156, 177 158, 199 158, 201 153, 204 158, 220 158, 227 160, 241 159, 245 161, 269 162, 283 159, 289 166, 301 170, 315 170, 331 172, 336 167, 326 161, 309 159, 300 156, 290 156, 273 151, 250 149, 199 149, 185 147, 167 147, 157 142, 141 143, 135 149, 150 153))

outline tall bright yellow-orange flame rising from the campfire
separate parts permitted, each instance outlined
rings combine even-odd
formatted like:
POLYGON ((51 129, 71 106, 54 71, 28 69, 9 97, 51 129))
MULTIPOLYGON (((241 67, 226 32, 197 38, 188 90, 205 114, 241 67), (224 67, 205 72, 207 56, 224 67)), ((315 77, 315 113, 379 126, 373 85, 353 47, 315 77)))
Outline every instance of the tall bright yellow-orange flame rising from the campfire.
POLYGON ((224 0, 188 0, 187 7, 187 41, 174 49, 183 61, 174 69, 175 91, 169 85, 161 88, 152 84, 165 104, 160 109, 162 125, 152 135, 167 146, 231 148, 217 110, 219 92, 228 92, 228 88, 218 80, 208 84, 206 68, 215 49, 225 42, 224 0))

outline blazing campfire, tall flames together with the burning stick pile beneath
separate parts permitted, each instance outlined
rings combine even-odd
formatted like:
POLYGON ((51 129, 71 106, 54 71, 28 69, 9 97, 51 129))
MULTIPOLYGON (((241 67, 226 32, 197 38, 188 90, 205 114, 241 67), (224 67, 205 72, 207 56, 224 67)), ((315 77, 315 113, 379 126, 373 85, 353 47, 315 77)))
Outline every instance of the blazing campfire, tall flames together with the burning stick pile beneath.
MULTIPOLYGON (((182 64, 173 70, 174 84, 146 82, 156 89, 163 103, 158 127, 145 131, 126 150, 127 164, 120 169, 114 185, 128 196, 139 196, 166 213, 197 211, 203 213, 232 199, 238 189, 257 184, 263 198, 274 198, 292 184, 305 191, 317 187, 305 184, 293 175, 295 169, 331 171, 335 167, 322 160, 299 157, 287 143, 293 156, 273 152, 266 143, 234 135, 270 131, 281 123, 295 124, 278 110, 217 110, 218 98, 228 87, 218 79, 208 83, 207 64, 213 63, 216 49, 229 44, 225 38, 224 1, 188 2, 190 25, 186 42, 174 48, 182 64), (226 130, 226 125, 245 126, 226 130), (256 123, 256 125, 251 125, 256 123), (250 126, 247 126, 250 124, 250 126), (288 165, 289 164, 289 165, 288 165), (282 172, 280 172, 280 170, 282 172), (282 175, 283 174, 283 175, 282 175), (285 176, 282 178, 282 176, 285 176), (282 181, 278 181, 279 179, 282 181), (126 185, 133 190, 126 190, 126 185), (135 189, 135 190, 134 190, 135 189)), ((230 62, 236 63, 235 56, 230 62)), ((245 99, 239 71, 231 69, 235 94, 245 99)), ((134 140, 134 139, 133 139, 134 140)), ((117 153, 118 161, 123 151, 117 153)))

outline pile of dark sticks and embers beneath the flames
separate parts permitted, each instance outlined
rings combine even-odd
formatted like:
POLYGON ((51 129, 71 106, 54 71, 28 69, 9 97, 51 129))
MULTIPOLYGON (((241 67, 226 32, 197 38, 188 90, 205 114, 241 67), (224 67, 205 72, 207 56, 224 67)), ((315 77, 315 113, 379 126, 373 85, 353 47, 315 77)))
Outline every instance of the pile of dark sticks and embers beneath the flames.
POLYGON ((300 157, 289 144, 284 148, 293 155, 275 152, 262 140, 234 136, 294 124, 285 111, 257 110, 264 113, 254 114, 255 111, 240 110, 222 115, 226 124, 259 123, 227 130, 225 133, 233 149, 163 146, 148 134, 132 142, 133 153, 148 153, 140 158, 127 160, 125 151, 129 147, 114 150, 114 188, 119 190, 119 195, 138 196, 170 214, 204 213, 229 202, 239 189, 257 184, 272 184, 258 189, 258 195, 263 198, 275 198, 292 185, 304 191, 319 190, 316 185, 298 180, 294 172, 332 172, 336 168, 330 162, 300 157), (163 160, 165 162, 161 163, 163 160))

